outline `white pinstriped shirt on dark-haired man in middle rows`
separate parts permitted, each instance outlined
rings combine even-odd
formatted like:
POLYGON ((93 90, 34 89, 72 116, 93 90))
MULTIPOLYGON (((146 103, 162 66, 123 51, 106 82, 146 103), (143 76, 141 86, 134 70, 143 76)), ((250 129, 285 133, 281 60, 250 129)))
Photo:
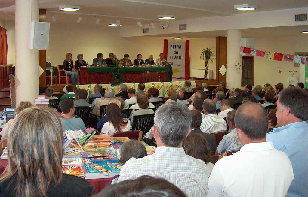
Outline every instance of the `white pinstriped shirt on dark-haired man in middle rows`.
POLYGON ((217 117, 216 113, 203 116, 201 131, 204 133, 218 133, 227 130, 227 123, 223 118, 217 117))

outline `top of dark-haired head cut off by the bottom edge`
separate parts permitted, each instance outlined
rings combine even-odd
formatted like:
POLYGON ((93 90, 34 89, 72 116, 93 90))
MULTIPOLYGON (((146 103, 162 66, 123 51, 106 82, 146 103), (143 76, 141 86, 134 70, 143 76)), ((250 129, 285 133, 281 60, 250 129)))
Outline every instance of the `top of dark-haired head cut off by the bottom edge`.
POLYGON ((165 179, 141 176, 107 186, 92 197, 187 197, 178 187, 165 179))

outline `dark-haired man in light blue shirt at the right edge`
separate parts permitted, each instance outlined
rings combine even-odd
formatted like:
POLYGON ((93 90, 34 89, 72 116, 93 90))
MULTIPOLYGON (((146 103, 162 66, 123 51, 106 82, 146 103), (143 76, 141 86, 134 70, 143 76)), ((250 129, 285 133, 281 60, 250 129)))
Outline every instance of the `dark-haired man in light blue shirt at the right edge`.
POLYGON ((272 141, 292 163, 294 180, 286 196, 308 196, 308 93, 296 87, 282 90, 278 95, 276 116, 281 127, 267 133, 266 141, 272 141))

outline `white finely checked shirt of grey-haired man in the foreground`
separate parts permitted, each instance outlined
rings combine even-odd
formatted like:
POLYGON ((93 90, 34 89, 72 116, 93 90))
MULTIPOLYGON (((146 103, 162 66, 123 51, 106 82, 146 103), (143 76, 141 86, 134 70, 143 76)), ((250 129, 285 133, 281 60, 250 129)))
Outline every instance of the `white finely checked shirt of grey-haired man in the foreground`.
POLYGON ((209 170, 202 160, 186 155, 183 148, 160 146, 153 155, 131 158, 122 167, 118 183, 143 175, 164 178, 189 197, 206 196, 209 170))

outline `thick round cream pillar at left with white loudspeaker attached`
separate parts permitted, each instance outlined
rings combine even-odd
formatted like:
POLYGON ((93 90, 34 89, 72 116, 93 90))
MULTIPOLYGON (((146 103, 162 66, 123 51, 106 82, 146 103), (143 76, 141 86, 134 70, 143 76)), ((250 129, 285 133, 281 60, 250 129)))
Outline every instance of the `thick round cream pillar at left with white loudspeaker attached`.
POLYGON ((16 105, 39 95, 39 50, 29 49, 30 21, 39 21, 39 0, 15 0, 16 105))

